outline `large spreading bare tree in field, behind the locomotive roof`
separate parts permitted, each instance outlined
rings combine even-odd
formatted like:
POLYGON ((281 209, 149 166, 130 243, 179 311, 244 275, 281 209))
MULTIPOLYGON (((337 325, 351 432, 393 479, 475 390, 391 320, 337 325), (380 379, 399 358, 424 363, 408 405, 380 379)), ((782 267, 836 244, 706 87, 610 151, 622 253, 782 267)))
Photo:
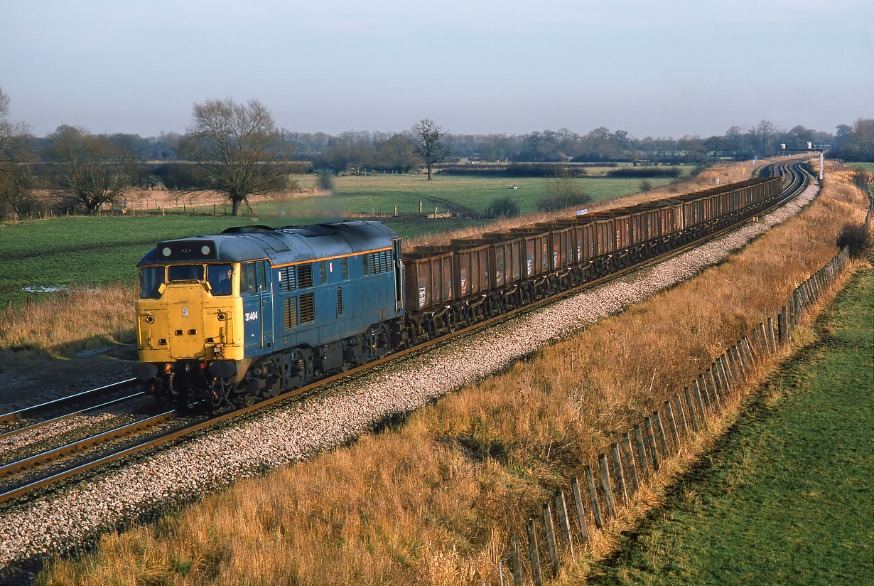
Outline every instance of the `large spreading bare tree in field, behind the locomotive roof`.
POLYGON ((286 143, 260 101, 207 100, 194 105, 193 119, 179 153, 198 164, 207 185, 231 200, 232 215, 240 203, 248 206, 249 196, 285 185, 286 143))

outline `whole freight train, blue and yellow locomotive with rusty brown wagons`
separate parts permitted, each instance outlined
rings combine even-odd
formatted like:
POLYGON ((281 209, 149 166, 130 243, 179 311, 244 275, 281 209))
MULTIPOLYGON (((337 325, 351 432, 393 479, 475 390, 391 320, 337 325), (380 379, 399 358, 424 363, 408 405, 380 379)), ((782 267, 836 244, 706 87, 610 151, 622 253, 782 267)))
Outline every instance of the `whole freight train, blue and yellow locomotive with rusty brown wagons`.
POLYGON ((751 218, 780 178, 402 251, 377 221, 233 227, 138 263, 135 376, 239 407, 570 290, 751 218))

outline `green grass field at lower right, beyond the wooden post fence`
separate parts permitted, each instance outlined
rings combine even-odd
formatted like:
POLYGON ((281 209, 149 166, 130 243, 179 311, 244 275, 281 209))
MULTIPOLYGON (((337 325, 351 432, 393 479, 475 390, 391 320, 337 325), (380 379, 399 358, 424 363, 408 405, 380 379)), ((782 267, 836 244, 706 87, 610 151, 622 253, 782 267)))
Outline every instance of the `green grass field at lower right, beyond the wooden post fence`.
POLYGON ((874 582, 872 299, 860 271, 593 583, 874 582))

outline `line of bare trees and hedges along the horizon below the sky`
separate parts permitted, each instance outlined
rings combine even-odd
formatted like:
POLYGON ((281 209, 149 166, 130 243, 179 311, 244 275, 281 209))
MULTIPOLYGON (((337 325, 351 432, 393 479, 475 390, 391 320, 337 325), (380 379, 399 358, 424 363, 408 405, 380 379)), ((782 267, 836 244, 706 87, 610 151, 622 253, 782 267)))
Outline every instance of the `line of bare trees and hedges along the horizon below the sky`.
MULTIPOLYGON (((625 130, 606 128, 585 135, 568 129, 451 134, 425 118, 403 132, 330 136, 278 129, 260 101, 227 99, 194 104, 184 134, 94 135, 62 125, 37 137, 26 125, 10 122, 9 104, 0 89, 0 216, 31 213, 41 201, 35 192, 51 194, 59 212, 95 213, 120 201, 131 187, 215 190, 225 194, 236 215, 250 196, 288 189, 294 173, 317 172, 320 183, 330 185, 331 174, 425 169, 430 180, 441 163, 454 163, 459 171, 459 162, 468 167, 500 162, 508 173, 544 173, 549 164, 568 162, 704 164, 720 158, 770 157, 780 153, 780 143, 797 148, 808 142, 828 143, 829 152, 838 157, 874 160, 874 120, 841 125, 835 135, 802 126, 786 131, 762 121, 746 131, 732 126, 723 136, 704 139, 638 139, 625 130)), ((494 172, 495 167, 483 171, 494 172)), ((555 184, 551 191, 560 193, 551 205, 579 203, 579 194, 567 193, 572 182, 563 172, 548 173, 555 184)))

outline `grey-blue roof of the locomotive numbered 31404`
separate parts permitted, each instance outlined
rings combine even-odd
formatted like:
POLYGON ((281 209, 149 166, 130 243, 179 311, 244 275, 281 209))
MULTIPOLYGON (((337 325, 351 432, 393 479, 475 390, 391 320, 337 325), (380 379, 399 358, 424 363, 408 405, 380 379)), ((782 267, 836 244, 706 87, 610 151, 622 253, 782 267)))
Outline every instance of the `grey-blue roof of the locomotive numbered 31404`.
POLYGON ((221 234, 158 242, 137 266, 263 258, 277 266, 389 248, 397 238, 382 222, 364 220, 278 228, 232 227, 221 234))

